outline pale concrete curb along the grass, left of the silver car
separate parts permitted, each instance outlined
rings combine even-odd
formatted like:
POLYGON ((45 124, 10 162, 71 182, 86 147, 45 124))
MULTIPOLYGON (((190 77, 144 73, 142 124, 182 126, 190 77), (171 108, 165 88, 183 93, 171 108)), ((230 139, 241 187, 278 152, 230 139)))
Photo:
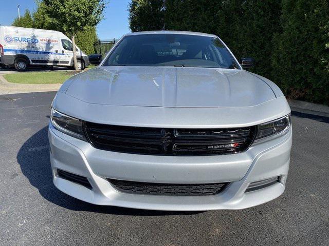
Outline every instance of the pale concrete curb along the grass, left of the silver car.
MULTIPOLYGON (((42 91, 57 91, 62 84, 15 84, 9 83, 2 75, 0 75, 0 92, 5 91, 5 94, 19 92, 42 92, 42 91)), ((1 94, 1 93, 0 93, 1 94)))

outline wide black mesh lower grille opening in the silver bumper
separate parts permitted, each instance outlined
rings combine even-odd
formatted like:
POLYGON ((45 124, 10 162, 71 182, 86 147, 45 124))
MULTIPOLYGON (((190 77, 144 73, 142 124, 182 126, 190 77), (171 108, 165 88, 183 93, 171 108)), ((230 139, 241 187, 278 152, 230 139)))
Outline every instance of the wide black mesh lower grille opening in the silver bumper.
POLYGON ((108 179, 121 192, 149 195, 205 196, 220 193, 227 183, 176 184, 108 179))

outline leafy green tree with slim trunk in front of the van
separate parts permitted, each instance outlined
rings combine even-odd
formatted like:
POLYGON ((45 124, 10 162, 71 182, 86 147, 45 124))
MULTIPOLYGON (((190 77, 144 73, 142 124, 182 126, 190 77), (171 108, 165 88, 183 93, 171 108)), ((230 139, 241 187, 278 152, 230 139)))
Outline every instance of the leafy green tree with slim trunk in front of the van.
MULTIPOLYGON (((103 19, 104 0, 43 0, 45 13, 50 18, 51 25, 57 30, 71 36, 73 47, 76 47, 75 37, 86 27, 94 27, 103 19)), ((76 71, 77 55, 73 49, 76 71)))

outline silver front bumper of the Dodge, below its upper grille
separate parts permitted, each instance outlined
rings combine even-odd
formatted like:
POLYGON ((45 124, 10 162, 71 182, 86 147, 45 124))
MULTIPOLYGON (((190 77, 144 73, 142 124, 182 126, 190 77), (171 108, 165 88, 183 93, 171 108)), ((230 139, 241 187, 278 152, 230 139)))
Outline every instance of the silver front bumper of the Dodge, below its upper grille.
POLYGON ((98 150, 49 125, 53 183, 70 196, 100 205, 168 211, 244 209, 284 192, 291 136, 290 129, 281 137, 253 145, 239 154, 152 156, 98 150), (60 178, 57 169, 87 177, 92 189, 60 178), (280 182, 245 192, 251 182, 276 176, 281 176, 280 182), (229 182, 229 185, 210 196, 138 195, 116 190, 107 178, 158 183, 229 182))

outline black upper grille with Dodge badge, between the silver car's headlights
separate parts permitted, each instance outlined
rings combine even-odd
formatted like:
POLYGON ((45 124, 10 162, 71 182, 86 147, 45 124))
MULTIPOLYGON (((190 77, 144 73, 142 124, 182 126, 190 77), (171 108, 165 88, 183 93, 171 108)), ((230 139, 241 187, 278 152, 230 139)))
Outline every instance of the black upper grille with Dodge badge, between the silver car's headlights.
POLYGON ((232 129, 165 129, 85 122, 95 148, 149 155, 218 155, 245 151, 255 127, 232 129))

